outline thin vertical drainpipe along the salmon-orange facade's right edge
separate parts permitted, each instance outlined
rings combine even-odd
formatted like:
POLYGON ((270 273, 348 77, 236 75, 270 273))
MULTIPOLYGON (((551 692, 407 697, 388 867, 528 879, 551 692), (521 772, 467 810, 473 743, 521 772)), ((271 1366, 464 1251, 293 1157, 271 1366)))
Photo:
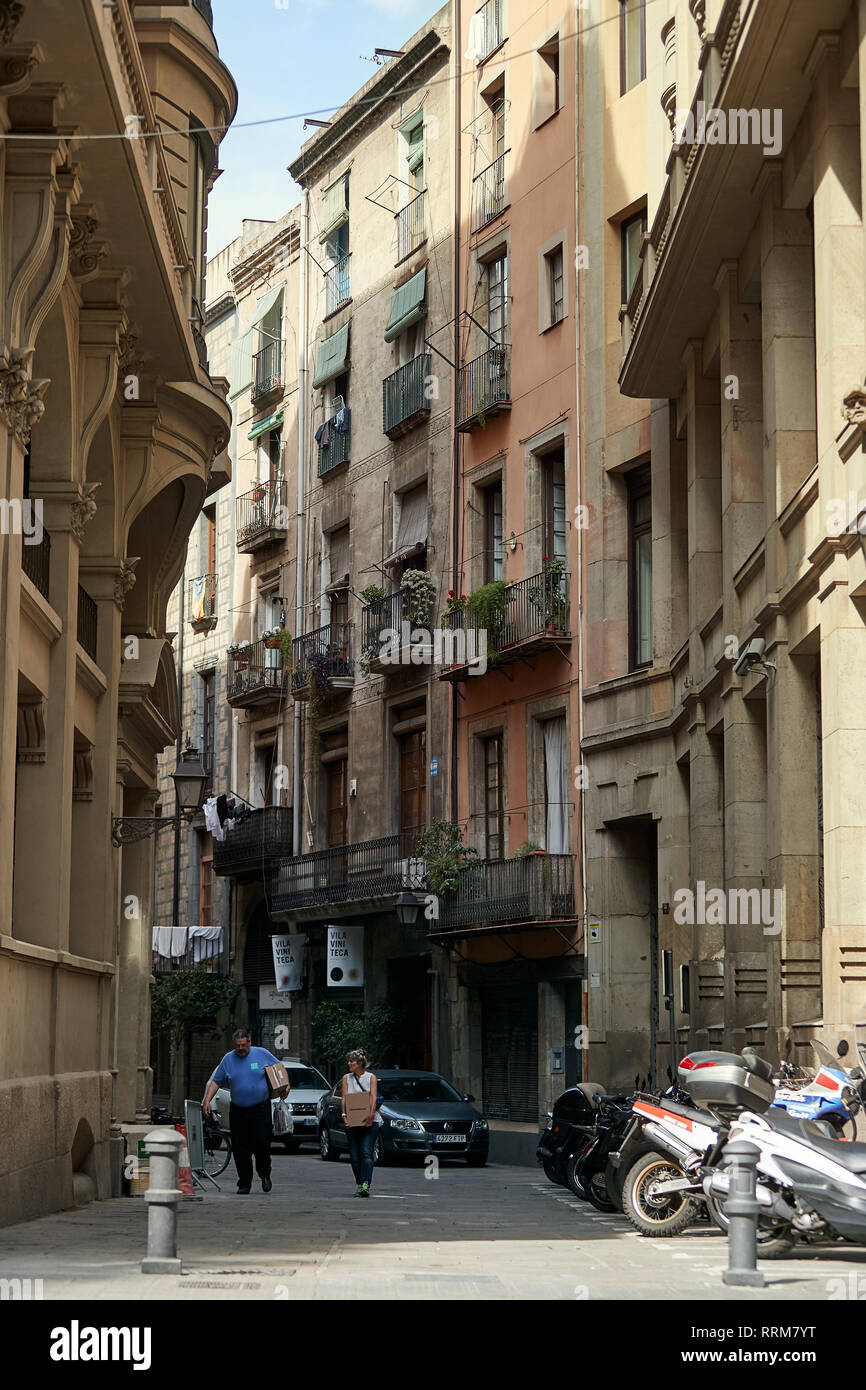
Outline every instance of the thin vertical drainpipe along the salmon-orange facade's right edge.
MULTIPOLYGON (((575 136, 574 136, 574 229, 577 245, 582 245, 581 231, 582 231, 582 199, 581 199, 581 150, 582 150, 582 113, 584 113, 584 83, 582 83, 582 6, 575 6, 577 25, 575 25, 575 54, 574 54, 574 74, 575 74, 575 93, 574 93, 574 120, 575 120, 575 136)), ((581 382, 582 382, 582 367, 581 367, 581 327, 584 316, 584 296, 580 288, 580 271, 577 270, 577 247, 575 247, 575 261, 574 261, 574 324, 577 334, 575 345, 575 434, 577 434, 577 506, 578 506, 578 521, 582 518, 582 512, 580 507, 584 500, 584 432, 582 432, 582 417, 581 417, 581 382)), ((584 531, 582 527, 577 528, 577 738, 578 738, 578 752, 582 766, 584 759, 584 531)), ((587 788, 578 788, 578 817, 577 817, 577 834, 580 844, 580 876, 581 876, 581 913, 582 913, 582 927, 584 927, 584 959, 587 956, 587 788)), ((584 967, 585 972, 587 967, 584 967)), ((587 979, 584 979, 584 987, 581 991, 581 1023, 588 1023, 588 997, 587 997, 587 979)), ((584 1038, 587 1034, 584 1034, 584 1038)), ((582 1049, 582 1079, 588 1079, 589 1070, 589 1047, 584 1041, 582 1049)))

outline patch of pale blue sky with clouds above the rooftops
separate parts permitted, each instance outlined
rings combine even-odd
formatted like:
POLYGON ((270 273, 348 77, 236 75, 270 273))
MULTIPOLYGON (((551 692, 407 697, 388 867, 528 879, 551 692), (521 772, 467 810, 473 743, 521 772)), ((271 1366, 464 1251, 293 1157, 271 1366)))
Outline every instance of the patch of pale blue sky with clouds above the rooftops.
MULTIPOLYGON (((299 190, 286 172, 303 118, 238 129, 243 121, 336 108, 377 71, 373 50, 399 49, 436 13, 436 0, 213 0, 220 54, 238 83, 235 128, 220 149, 222 177, 209 202, 207 254, 245 217, 277 218, 299 190)), ((321 120, 328 118, 328 110, 321 120)))

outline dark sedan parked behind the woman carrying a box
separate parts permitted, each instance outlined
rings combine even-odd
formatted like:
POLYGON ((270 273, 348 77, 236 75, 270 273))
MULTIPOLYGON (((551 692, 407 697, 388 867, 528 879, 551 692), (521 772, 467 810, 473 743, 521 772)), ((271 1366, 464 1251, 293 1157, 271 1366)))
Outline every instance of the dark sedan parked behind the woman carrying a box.
MULTIPOLYGON (((374 1158, 382 1162, 398 1154, 436 1154, 464 1158, 471 1168, 487 1163, 488 1123, 450 1081, 435 1072, 375 1072, 379 1115, 374 1158)), ((349 1151, 342 1115, 342 1077, 318 1102, 318 1150, 324 1159, 349 1151)))

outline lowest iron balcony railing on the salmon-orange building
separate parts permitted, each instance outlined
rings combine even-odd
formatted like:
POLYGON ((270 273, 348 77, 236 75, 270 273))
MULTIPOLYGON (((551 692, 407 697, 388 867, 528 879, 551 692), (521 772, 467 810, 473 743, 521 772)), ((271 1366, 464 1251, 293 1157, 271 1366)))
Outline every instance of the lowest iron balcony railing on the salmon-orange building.
POLYGON ((455 892, 439 897, 430 934, 482 931, 518 922, 574 917, 573 855, 527 855, 466 865, 455 892))

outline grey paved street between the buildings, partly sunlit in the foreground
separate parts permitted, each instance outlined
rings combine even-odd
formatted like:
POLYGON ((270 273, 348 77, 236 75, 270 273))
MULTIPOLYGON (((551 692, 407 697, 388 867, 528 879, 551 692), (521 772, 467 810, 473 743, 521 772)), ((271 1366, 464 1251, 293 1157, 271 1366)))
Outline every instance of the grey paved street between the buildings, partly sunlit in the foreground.
POLYGON ((721 1284, 727 1241, 701 1225, 645 1240, 530 1168, 379 1169, 370 1201, 349 1163, 274 1154, 274 1190, 185 1202, 183 1273, 145 1276, 143 1201, 97 1202, 0 1232, 0 1280, 42 1279, 46 1300, 791 1300, 852 1298, 866 1251, 765 1261, 763 1290, 721 1284))

